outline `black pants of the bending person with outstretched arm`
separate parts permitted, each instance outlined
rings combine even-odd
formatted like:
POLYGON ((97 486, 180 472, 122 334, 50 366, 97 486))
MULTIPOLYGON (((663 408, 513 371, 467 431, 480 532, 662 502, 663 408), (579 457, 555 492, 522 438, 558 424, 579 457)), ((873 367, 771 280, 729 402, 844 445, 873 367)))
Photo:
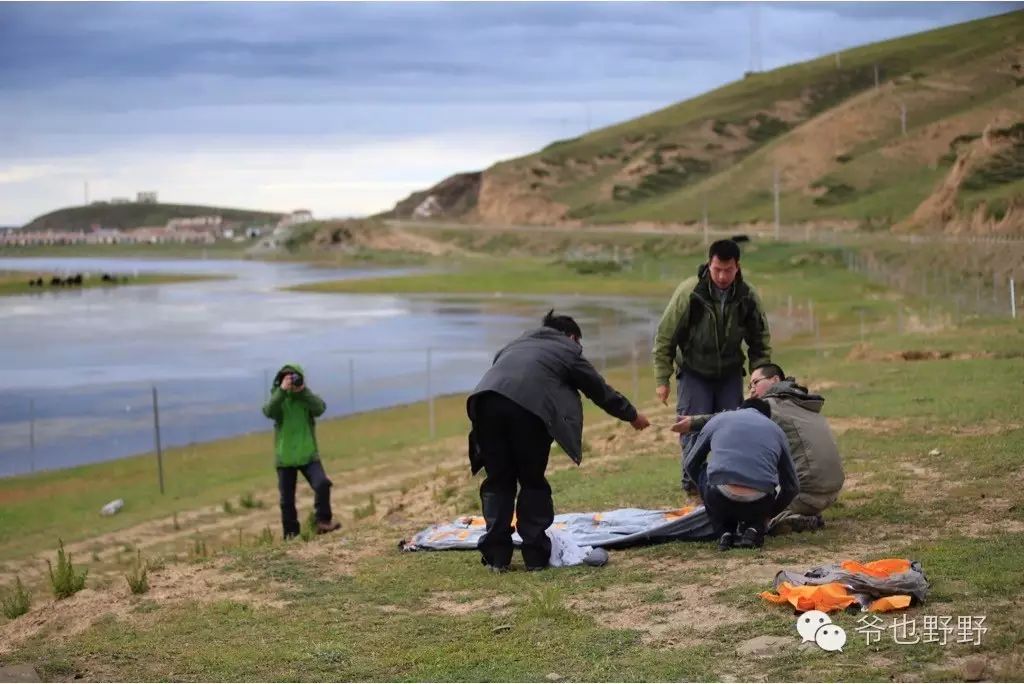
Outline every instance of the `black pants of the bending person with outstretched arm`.
POLYGON ((487 531, 478 549, 488 565, 512 562, 512 514, 522 538, 522 559, 544 567, 551 558, 545 533, 555 518, 551 485, 544 477, 551 453, 551 434, 540 418, 501 394, 478 396, 473 432, 480 445, 486 477, 480 504, 487 531), (516 484, 519 498, 516 500, 516 484))

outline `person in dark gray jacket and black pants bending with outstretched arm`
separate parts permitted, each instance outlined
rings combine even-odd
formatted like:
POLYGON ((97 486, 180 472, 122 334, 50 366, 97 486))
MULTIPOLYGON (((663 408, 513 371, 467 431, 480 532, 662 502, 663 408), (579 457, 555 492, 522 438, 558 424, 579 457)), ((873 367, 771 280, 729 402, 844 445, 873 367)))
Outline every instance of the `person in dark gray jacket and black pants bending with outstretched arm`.
POLYGON ((513 513, 526 569, 548 566, 551 541, 545 530, 555 511, 544 471, 552 440, 577 465, 583 460, 579 392, 634 429, 650 425, 584 357, 575 320, 552 310, 543 328, 523 333, 498 352, 466 401, 473 423, 470 466, 474 474, 486 470, 480 504, 487 531, 478 548, 481 562, 493 571, 508 570, 512 563, 513 513))

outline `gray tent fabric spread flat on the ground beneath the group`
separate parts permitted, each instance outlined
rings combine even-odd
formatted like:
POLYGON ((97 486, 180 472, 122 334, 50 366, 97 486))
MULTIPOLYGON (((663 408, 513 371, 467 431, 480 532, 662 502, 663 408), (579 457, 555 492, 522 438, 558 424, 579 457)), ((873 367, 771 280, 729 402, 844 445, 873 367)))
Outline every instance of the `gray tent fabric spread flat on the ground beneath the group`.
MULTIPOLYGON (((562 513, 551 530, 565 532, 581 547, 616 549, 653 542, 698 542, 715 537, 703 506, 675 510, 620 508, 602 513, 562 513)), ((463 516, 427 527, 399 544, 402 551, 475 549, 485 531, 483 518, 463 516)), ((516 546, 522 543, 512 535, 516 546)))

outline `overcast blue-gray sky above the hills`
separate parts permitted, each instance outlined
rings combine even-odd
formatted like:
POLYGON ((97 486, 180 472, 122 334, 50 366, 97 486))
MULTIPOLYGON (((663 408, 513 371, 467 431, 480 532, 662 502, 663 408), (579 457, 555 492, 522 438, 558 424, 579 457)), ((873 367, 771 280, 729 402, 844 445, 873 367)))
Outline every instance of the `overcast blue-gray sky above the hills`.
POLYGON ((0 2, 0 225, 157 190, 318 217, 1024 3, 0 2))

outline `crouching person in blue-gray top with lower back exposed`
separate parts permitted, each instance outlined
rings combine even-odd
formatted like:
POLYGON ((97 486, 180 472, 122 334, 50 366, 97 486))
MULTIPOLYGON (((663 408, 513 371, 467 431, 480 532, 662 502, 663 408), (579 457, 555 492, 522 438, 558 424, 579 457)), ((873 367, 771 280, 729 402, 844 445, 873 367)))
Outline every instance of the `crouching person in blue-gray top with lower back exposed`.
POLYGON ((686 472, 700 488, 722 551, 760 548, 768 520, 800 491, 785 433, 764 399, 746 399, 708 421, 686 472))

